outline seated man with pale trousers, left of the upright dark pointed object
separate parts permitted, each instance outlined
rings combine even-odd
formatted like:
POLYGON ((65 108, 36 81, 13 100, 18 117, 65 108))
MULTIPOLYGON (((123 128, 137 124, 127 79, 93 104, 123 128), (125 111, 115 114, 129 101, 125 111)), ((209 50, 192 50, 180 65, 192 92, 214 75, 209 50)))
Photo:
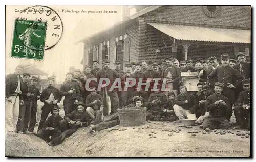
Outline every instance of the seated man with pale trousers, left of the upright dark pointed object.
MULTIPOLYGON (((91 89, 95 87, 90 87, 91 89)), ((97 94, 96 89, 91 91, 91 94, 86 97, 86 112, 93 120, 93 124, 98 124, 101 122, 102 111, 100 111, 100 106, 102 105, 102 97, 97 94)))

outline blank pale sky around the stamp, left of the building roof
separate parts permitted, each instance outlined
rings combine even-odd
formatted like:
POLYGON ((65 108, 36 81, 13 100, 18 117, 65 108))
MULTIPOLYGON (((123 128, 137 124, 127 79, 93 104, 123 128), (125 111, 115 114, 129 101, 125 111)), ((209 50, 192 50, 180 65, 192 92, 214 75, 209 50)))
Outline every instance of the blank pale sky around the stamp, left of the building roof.
POLYGON ((77 43, 88 36, 110 28, 121 21, 122 6, 49 6, 57 11, 63 22, 63 34, 55 47, 45 51, 43 61, 10 57, 14 20, 20 13, 15 9, 25 9, 29 6, 6 6, 6 74, 13 73, 18 64, 29 62, 49 75, 53 72, 57 80, 64 80, 70 66, 83 68, 80 64, 83 58, 83 44, 77 43), (80 11, 80 13, 63 13, 58 11, 80 11), (117 13, 81 13, 84 11, 111 10, 117 13))

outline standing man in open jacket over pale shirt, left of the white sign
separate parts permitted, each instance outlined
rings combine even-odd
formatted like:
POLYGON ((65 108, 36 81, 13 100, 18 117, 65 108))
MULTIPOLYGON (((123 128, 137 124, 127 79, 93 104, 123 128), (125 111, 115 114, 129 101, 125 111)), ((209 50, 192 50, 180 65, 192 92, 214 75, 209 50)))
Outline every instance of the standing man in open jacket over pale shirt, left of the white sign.
MULTIPOLYGON (((173 65, 171 58, 165 58, 167 67, 163 70, 162 78, 167 78, 166 87, 173 91, 175 95, 178 94, 179 80, 180 80, 180 68, 173 65)), ((164 91, 167 96, 169 91, 164 91)))

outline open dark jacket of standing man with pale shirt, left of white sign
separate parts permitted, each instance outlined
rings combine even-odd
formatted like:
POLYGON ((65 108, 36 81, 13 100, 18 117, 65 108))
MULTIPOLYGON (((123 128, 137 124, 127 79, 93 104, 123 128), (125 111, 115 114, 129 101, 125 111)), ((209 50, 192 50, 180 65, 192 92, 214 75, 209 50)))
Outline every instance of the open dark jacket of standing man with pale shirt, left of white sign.
POLYGON ((176 66, 173 66, 170 69, 168 67, 166 67, 161 74, 162 78, 166 78, 170 71, 170 73, 172 74, 172 79, 173 79, 173 90, 179 89, 180 70, 181 69, 176 66))

